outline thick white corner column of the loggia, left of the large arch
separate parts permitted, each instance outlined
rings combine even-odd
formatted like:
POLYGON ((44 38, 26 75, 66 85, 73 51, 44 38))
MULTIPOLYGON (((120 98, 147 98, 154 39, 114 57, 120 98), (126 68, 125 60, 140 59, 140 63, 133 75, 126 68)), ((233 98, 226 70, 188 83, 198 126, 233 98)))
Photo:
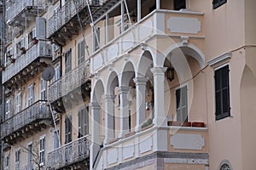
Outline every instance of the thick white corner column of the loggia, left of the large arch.
POLYGON ((165 72, 166 67, 150 69, 154 77, 154 126, 166 126, 165 114, 165 72))

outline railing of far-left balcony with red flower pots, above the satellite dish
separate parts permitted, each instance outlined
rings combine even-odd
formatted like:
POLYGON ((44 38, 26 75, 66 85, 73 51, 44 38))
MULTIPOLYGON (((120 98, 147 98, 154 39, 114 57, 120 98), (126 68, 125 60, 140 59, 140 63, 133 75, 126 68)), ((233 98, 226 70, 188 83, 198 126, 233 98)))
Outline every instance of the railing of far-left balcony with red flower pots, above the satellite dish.
POLYGON ((39 57, 51 58, 51 45, 49 42, 39 41, 31 48, 28 48, 26 54, 14 57, 17 58, 15 62, 7 65, 5 71, 3 71, 3 82, 7 82, 11 77, 14 77, 39 57))

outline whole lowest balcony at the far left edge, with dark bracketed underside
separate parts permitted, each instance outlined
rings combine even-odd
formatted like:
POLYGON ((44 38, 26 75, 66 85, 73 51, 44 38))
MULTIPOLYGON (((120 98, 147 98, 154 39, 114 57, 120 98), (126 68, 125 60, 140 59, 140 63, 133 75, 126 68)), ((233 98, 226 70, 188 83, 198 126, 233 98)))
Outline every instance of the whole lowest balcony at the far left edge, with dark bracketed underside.
POLYGON ((15 144, 19 139, 25 139, 46 127, 50 123, 46 120, 49 119, 47 102, 38 100, 1 124, 1 139, 8 144, 15 144))

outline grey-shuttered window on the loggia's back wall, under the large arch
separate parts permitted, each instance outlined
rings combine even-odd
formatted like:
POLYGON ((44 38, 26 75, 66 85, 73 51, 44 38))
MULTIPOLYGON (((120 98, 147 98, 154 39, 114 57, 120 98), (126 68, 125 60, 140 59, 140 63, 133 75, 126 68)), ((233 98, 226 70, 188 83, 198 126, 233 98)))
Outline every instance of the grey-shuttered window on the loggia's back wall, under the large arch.
POLYGON ((187 86, 176 90, 177 122, 188 122, 188 90, 187 86))

